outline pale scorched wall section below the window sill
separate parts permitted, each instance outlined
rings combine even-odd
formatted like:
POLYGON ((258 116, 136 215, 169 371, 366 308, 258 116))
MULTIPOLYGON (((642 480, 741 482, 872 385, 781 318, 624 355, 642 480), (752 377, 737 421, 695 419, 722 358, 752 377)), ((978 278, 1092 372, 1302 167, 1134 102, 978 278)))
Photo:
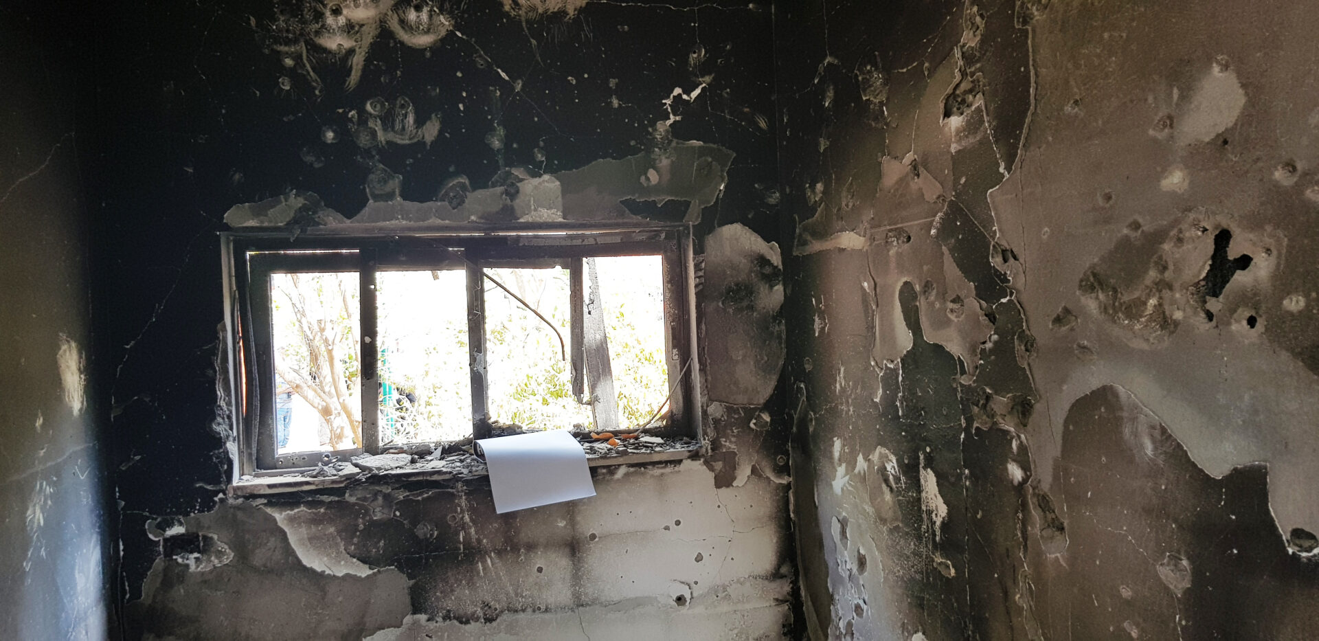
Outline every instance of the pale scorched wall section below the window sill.
POLYGON ((783 634, 793 568, 780 485, 718 488, 698 462, 595 483, 592 500, 508 514, 488 483, 467 481, 156 521, 165 554, 133 616, 158 637, 783 634))

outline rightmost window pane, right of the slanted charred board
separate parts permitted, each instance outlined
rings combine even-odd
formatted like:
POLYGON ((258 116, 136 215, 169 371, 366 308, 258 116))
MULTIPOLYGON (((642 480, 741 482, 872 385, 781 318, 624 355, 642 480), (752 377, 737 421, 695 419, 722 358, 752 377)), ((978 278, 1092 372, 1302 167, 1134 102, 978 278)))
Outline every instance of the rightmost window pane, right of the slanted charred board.
POLYGON ((665 361, 663 257, 595 259, 619 425, 641 426, 669 396, 665 361))

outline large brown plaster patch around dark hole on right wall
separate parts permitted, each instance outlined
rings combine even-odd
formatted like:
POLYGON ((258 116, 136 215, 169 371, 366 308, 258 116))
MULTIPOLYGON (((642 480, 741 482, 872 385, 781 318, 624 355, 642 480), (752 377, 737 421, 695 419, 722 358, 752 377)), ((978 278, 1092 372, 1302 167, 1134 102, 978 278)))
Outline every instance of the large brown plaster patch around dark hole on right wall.
MULTIPOLYGON (((1088 15, 1062 12, 1068 20, 1088 15)), ((1119 28, 1130 17, 1122 11, 1096 25, 1124 34, 1122 44, 1101 47, 1111 62, 1097 65, 1100 58, 1068 47, 1071 22, 1046 16, 1034 22, 1034 46, 1051 53, 1039 66, 1039 117, 1024 152, 1030 162, 993 193, 996 211, 1016 222, 1001 232, 1026 269, 1013 284, 1024 291, 1026 317, 1054 318, 1064 306, 1076 315, 1071 328, 1037 336, 1033 367, 1046 412, 1030 434, 1042 476, 1050 479, 1060 414, 1089 390, 1116 384, 1141 398, 1208 473, 1269 462, 1274 488, 1304 483, 1319 460, 1293 431, 1307 430, 1315 412, 1308 398, 1319 380, 1303 347, 1312 339, 1297 334, 1310 320, 1272 323, 1289 314, 1285 301, 1307 278, 1295 256, 1314 236, 1301 169, 1314 154, 1294 141, 1311 136, 1312 107, 1283 107, 1293 104, 1282 96, 1297 78, 1248 62, 1285 59, 1277 58, 1279 41, 1264 34, 1301 22, 1223 13, 1223 21, 1252 26, 1233 47, 1204 50, 1190 32, 1119 28), (1132 73, 1145 79, 1117 80, 1132 73), (1096 82, 1078 84, 1078 74, 1096 82), (1128 98, 1140 107, 1103 123, 1066 113, 1072 100, 1099 113, 1128 98), (1124 152, 1075 154, 1076 144, 1124 152), (1082 227, 1060 227, 1055 212, 1075 212, 1067 219, 1082 227), (1041 232, 1046 226, 1049 235, 1041 232), (1223 229, 1223 257, 1213 259, 1223 229), (1249 264, 1233 260, 1245 256, 1249 264), (1217 282, 1207 277, 1215 260, 1232 268, 1217 282), (1067 282, 1074 274, 1076 294, 1067 282), (1099 281, 1086 274, 1104 285, 1091 286, 1099 281), (1204 295, 1206 286, 1219 294, 1204 295), (1111 302, 1095 306, 1096 294, 1111 302)), ((1270 503, 1283 532, 1319 522, 1314 506, 1291 492, 1277 489, 1270 503)))

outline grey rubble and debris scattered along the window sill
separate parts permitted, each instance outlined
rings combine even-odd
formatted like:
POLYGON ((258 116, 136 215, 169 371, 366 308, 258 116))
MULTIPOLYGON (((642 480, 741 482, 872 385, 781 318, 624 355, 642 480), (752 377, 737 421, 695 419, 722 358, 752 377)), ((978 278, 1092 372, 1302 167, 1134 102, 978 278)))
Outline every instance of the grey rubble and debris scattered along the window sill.
MULTIPOLYGON (((637 434, 584 434, 578 437, 587 464, 623 466, 682 460, 700 452, 691 438, 660 438, 637 434), (620 438, 623 441, 620 441, 620 438), (617 443, 617 444, 613 444, 617 443)), ((360 455, 351 462, 322 463, 311 470, 290 470, 282 475, 243 476, 230 487, 232 496, 273 495, 336 488, 357 483, 471 479, 485 476, 485 462, 466 447, 443 447, 429 455, 408 452, 360 455), (445 454, 447 451, 447 454, 445 454)), ((425 450, 421 450, 425 451, 425 450)))

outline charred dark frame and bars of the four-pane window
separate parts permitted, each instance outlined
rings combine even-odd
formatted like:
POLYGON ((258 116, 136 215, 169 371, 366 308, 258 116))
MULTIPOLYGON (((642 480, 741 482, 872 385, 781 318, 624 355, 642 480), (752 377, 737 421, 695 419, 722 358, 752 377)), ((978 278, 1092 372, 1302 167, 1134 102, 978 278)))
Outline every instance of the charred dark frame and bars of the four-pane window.
MULTIPOLYGON (((289 473, 314 468, 328 454, 347 459, 379 454, 379 348, 376 274, 390 270, 467 272, 468 369, 472 380, 472 435, 489 437, 485 368, 484 268, 563 266, 570 272, 572 392, 583 400, 591 377, 584 343, 586 259, 660 255, 663 262, 667 422, 657 435, 700 438, 700 379, 696 367, 695 272, 689 224, 518 224, 518 226, 334 226, 290 237, 288 229, 222 233, 228 331, 230 393, 237 435, 239 475, 289 473), (355 272, 359 289, 361 373, 360 448, 288 452, 274 447, 274 365, 270 274, 355 272)), ((608 301, 605 301, 608 302, 608 301)), ((598 369, 598 368, 596 368, 598 369)), ((497 376, 497 373, 496 373, 497 376)), ((658 401, 658 400, 657 400, 658 401)))

